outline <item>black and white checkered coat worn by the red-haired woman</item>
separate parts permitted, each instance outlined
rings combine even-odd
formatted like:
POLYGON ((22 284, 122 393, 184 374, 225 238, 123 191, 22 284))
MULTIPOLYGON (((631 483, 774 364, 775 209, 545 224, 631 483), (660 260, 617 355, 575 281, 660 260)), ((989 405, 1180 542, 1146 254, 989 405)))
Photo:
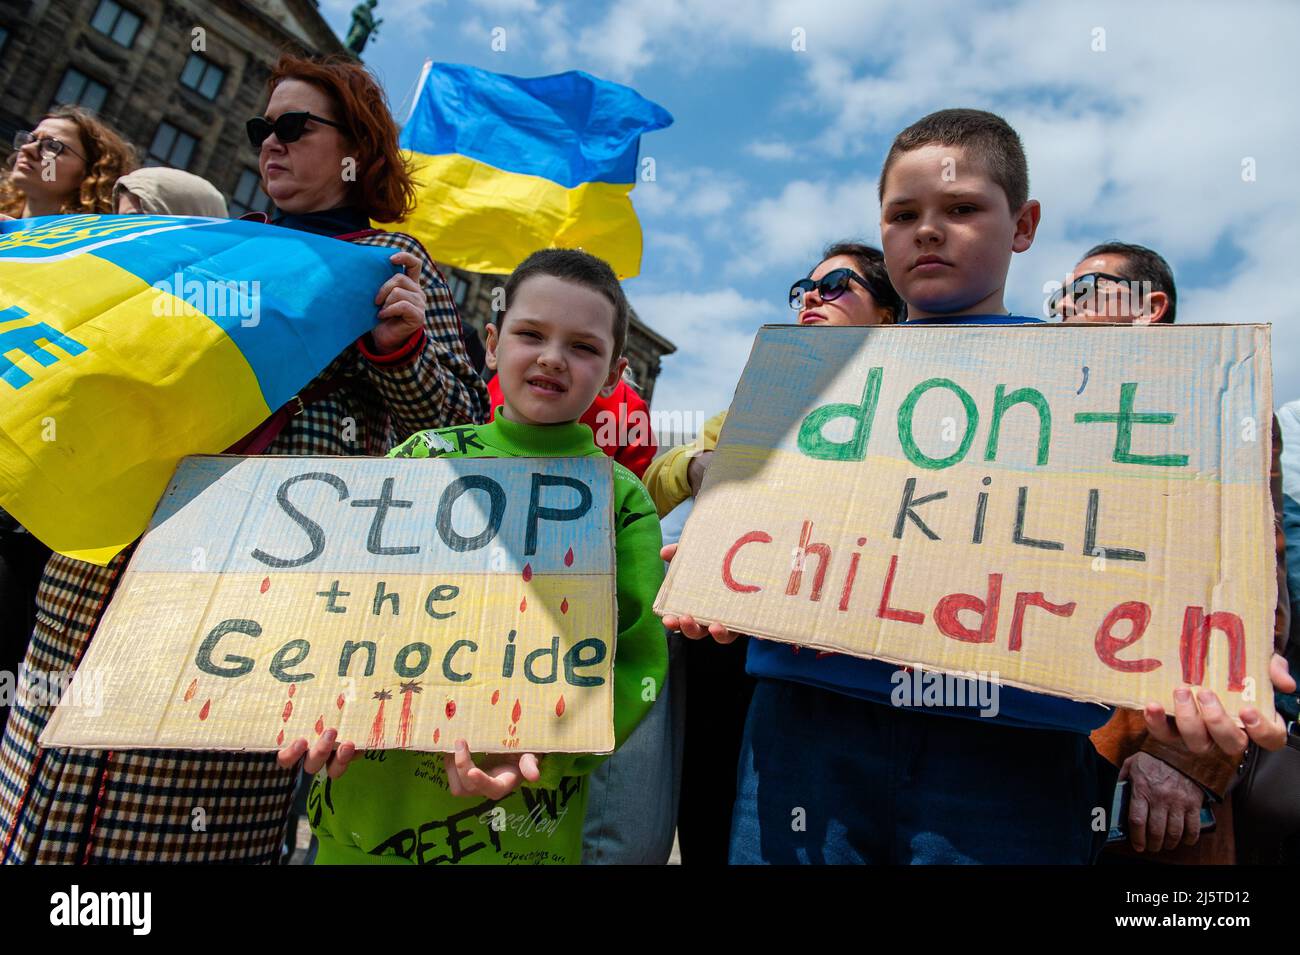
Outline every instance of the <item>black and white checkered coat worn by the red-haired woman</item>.
MULTIPOLYGON (((455 303, 420 243, 396 233, 355 240, 424 260, 424 346, 395 363, 348 346, 312 382, 342 374, 344 386, 291 418, 266 453, 382 455, 416 431, 488 420, 455 303)), ((75 669, 133 550, 108 567, 51 557, 29 669, 75 669)), ((298 772, 278 768, 273 754, 42 750, 51 712, 16 703, 10 713, 0 746, 0 861, 278 860, 298 772)))

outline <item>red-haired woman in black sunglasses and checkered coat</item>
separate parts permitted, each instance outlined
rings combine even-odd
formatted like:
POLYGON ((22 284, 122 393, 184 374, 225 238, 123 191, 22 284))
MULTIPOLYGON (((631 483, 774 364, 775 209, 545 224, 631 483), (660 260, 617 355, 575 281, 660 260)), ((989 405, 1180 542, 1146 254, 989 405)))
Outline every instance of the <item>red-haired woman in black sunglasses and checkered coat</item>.
MULTIPOLYGON (((442 275, 411 236, 369 227, 402 218, 413 200, 378 83, 352 60, 285 56, 269 87, 265 116, 248 123, 263 188, 281 212, 265 227, 384 246, 404 272, 377 290, 372 331, 231 451, 382 455, 416 431, 486 420, 442 275)), ((49 560, 32 670, 81 659, 133 550, 105 568, 49 560)), ((0 746, 0 863, 281 859, 300 773, 276 754, 38 750, 49 715, 18 706, 0 746)))

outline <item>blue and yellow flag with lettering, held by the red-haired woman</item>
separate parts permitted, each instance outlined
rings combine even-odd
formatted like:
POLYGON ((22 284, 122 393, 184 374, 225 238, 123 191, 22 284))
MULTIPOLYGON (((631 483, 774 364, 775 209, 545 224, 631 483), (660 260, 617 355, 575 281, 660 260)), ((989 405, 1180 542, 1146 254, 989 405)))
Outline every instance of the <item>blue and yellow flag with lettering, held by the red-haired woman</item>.
POLYGON ((0 507, 107 564, 177 461, 263 422, 376 321, 390 249, 257 222, 0 222, 0 507))

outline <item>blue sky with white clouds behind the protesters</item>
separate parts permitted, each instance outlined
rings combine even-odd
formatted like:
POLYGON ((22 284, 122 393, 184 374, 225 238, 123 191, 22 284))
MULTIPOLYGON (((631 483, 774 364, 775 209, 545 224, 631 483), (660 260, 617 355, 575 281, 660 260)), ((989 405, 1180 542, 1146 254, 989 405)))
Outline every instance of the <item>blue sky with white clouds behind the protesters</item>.
MULTIPOLYGON (((322 0, 344 35, 355 0, 322 0)), ((1043 203, 1008 305, 1088 246, 1174 266, 1179 321, 1273 322, 1275 404, 1300 398, 1300 4, 863 0, 380 0, 365 61, 399 118, 425 57, 500 73, 582 69, 676 122, 642 139, 655 182, 633 307, 677 344, 655 411, 729 404, 754 330, 832 239, 879 243, 892 136, 933 109, 1006 117, 1043 203), (504 49, 493 49, 495 29, 504 49), (802 47, 802 48, 797 48, 802 47)), ((499 44, 498 44, 499 45, 499 44)))

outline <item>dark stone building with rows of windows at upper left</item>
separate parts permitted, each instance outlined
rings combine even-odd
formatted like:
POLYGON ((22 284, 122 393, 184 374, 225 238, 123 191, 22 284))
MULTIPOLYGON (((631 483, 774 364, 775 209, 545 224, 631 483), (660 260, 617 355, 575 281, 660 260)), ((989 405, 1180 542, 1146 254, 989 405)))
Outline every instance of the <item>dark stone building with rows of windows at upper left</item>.
POLYGON ((98 112, 140 159, 265 210, 244 121, 283 49, 342 53, 315 0, 0 0, 0 143, 56 103, 98 112))

